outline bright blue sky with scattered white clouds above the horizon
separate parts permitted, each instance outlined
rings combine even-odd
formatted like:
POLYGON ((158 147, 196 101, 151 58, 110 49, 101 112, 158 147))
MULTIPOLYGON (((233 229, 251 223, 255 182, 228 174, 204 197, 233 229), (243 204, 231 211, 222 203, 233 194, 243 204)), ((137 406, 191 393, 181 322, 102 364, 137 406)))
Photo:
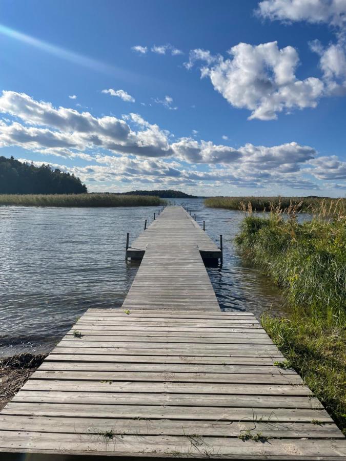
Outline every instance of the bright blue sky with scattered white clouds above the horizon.
POLYGON ((0 155, 90 191, 344 196, 346 0, 0 6, 0 155))

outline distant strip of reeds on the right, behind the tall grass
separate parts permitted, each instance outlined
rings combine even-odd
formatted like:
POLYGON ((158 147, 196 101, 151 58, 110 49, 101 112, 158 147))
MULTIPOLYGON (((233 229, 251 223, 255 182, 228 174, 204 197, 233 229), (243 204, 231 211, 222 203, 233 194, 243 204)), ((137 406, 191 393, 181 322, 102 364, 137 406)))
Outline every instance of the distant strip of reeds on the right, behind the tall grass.
POLYGON ((346 199, 332 199, 329 197, 209 197, 206 198, 204 204, 212 208, 226 209, 243 209, 243 204, 249 204, 253 212, 271 211, 273 207, 279 208, 281 211, 294 206, 296 212, 316 211, 323 203, 323 207, 337 207, 342 209, 346 207, 346 199))

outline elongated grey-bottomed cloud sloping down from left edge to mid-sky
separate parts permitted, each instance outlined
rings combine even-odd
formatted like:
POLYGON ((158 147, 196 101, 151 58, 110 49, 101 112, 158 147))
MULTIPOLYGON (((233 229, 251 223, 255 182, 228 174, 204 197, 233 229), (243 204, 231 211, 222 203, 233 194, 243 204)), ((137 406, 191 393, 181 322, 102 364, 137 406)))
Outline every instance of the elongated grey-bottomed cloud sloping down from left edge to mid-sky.
POLYGON ((155 124, 148 123, 145 129, 136 132, 125 120, 116 117, 96 118, 89 112, 80 113, 63 107, 56 109, 49 102, 36 101, 25 93, 11 91, 4 91, 0 97, 0 112, 18 117, 26 124, 41 125, 40 128, 19 123, 2 125, 0 142, 8 145, 16 142, 38 145, 41 142, 44 147, 54 144, 56 147, 96 147, 151 157, 172 155, 166 134, 155 124))

